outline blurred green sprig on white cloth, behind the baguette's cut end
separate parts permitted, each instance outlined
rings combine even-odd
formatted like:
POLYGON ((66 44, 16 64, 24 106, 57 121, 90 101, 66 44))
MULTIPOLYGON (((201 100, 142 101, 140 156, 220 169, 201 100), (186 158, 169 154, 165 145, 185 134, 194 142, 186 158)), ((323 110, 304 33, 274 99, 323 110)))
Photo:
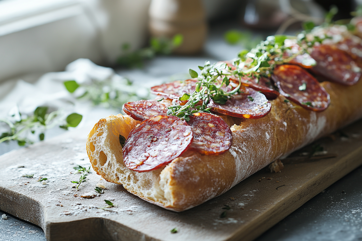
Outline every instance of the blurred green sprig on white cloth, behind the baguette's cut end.
POLYGON ((97 80, 89 83, 77 83, 74 80, 64 81, 66 89, 77 99, 89 100, 95 106, 122 109, 126 102, 147 99, 148 89, 135 86, 129 79, 115 75, 113 78, 97 80), (79 92, 75 92, 79 89, 79 92))

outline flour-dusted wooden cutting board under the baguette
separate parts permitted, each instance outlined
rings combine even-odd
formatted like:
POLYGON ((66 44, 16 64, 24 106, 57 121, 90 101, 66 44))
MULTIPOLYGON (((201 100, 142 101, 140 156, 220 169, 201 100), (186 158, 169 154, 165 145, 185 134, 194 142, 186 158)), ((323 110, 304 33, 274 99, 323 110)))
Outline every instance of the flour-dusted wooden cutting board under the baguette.
POLYGON ((106 182, 95 172, 79 190, 72 188, 89 166, 87 130, 69 132, 49 141, 0 156, 0 209, 43 228, 47 240, 253 240, 316 194, 362 164, 362 121, 343 133, 318 141, 329 159, 284 160, 278 173, 266 169, 240 182, 227 193, 190 210, 164 210, 106 182), (348 136, 348 137, 347 137, 348 136), (22 175, 34 174, 33 178, 22 175), (47 185, 37 182, 48 178, 47 185), (81 198, 97 183, 104 194, 81 198), (104 199, 118 205, 109 211, 104 199), (221 218, 225 209, 226 217, 221 218), (171 229, 177 228, 177 233, 171 229))

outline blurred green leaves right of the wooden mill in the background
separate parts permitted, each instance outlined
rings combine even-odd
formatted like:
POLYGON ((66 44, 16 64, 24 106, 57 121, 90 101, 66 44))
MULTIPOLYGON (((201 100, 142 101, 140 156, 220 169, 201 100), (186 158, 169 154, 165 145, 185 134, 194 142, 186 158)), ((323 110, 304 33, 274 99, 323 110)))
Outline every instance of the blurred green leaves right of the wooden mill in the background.
POLYGON ((262 41, 262 37, 253 34, 249 31, 229 30, 224 34, 224 39, 228 44, 239 44, 247 50, 251 50, 262 41))

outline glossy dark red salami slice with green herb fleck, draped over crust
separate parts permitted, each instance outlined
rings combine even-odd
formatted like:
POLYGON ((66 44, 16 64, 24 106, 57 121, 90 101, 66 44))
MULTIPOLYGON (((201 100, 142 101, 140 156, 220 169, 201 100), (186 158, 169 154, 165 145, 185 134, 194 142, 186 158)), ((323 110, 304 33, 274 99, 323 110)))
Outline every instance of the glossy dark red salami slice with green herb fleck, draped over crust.
POLYGON ((272 78, 280 94, 306 109, 323 111, 331 102, 327 91, 310 73, 299 66, 279 65, 274 69, 272 78))

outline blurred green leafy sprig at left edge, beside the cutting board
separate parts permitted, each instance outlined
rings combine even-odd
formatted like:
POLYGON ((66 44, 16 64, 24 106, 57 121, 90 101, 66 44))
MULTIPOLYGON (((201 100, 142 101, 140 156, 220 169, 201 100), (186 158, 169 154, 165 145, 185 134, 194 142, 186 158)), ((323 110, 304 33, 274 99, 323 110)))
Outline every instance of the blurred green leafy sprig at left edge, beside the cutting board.
POLYGON ((0 119, 0 122, 5 123, 8 126, 9 131, 3 132, 0 135, 0 143, 5 141, 17 141, 19 146, 25 146, 25 144, 31 144, 33 141, 28 137, 30 131, 31 134, 35 132, 41 132, 39 134, 39 140, 43 141, 45 137, 45 130, 53 128, 59 125, 60 128, 68 130, 68 127, 76 127, 82 120, 82 115, 72 113, 65 119, 61 115, 60 111, 53 111, 47 113, 47 106, 39 106, 35 109, 32 115, 22 115, 20 112, 12 115, 12 119, 16 115, 17 120, 0 119))

